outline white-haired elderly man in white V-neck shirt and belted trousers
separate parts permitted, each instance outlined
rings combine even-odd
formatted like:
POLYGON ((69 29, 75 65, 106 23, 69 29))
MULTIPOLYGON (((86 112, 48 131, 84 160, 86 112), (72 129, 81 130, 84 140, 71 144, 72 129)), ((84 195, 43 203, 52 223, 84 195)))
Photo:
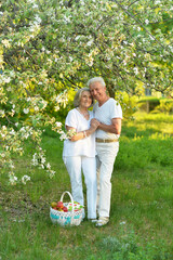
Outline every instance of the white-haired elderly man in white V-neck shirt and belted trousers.
POLYGON ((109 221, 111 173, 119 151, 122 109, 120 104, 106 93, 105 81, 101 77, 89 80, 88 86, 92 96, 97 101, 94 105, 94 119, 99 121, 96 130, 97 160, 97 210, 96 226, 103 226, 109 221))

